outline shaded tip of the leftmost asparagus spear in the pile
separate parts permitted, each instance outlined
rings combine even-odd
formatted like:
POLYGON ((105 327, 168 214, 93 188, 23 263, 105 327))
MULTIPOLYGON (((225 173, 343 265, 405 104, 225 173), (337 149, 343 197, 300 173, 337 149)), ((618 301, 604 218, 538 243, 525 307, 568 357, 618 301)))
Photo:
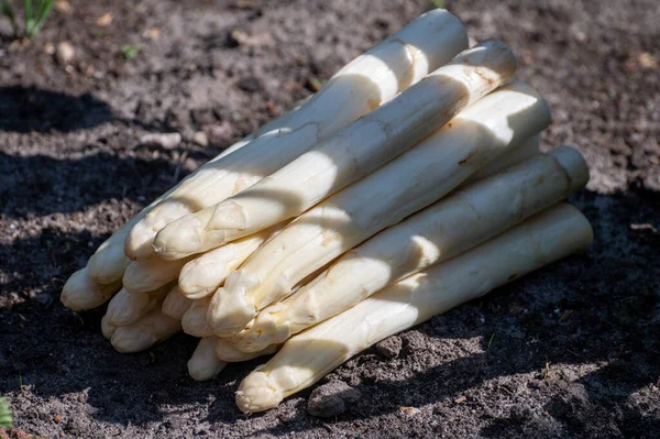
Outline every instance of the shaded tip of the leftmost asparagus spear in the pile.
POLYGON ((111 284, 98 284, 89 276, 89 270, 78 270, 70 275, 59 299, 65 307, 74 311, 84 311, 103 305, 121 289, 121 281, 111 284))

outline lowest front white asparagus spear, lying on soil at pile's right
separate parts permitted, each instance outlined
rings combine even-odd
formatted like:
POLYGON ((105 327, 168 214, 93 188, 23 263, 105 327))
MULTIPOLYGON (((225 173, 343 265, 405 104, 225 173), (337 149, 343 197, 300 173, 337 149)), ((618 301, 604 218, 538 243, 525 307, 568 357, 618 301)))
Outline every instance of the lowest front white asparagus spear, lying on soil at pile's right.
POLYGON ((549 209, 293 337, 243 380, 237 404, 244 413, 274 407, 384 338, 586 249, 592 239, 591 226, 578 209, 549 209))

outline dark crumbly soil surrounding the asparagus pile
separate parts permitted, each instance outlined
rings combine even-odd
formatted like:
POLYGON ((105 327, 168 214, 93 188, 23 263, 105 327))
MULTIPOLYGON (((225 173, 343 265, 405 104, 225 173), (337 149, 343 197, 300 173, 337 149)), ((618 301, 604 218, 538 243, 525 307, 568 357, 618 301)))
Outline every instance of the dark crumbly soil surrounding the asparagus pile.
POLYGON ((308 414, 312 389, 245 417, 233 393, 258 361, 196 383, 193 338, 122 355, 101 311, 74 314, 58 295, 140 207, 430 3, 87 0, 55 10, 31 44, 0 21, 0 394, 15 426, 52 438, 659 437, 660 3, 447 6, 474 39, 515 48, 553 109, 543 147, 587 157, 591 183, 571 201, 596 241, 349 361, 320 385, 361 396, 331 418, 308 414), (63 41, 68 63, 52 53, 63 41), (175 150, 140 145, 173 131, 175 150), (209 146, 191 141, 199 131, 209 146))

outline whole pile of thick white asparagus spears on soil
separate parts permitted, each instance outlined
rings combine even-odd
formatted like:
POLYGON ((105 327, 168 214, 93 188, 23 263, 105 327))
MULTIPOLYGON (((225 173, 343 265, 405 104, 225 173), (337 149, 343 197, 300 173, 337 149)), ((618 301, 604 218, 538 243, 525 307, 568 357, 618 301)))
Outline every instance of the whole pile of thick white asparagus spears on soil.
POLYGON ((198 381, 275 353, 241 383, 276 406, 373 343, 586 249, 561 204, 588 171, 539 153, 544 100, 515 56, 430 11, 302 106, 229 147, 112 234, 62 301, 110 300, 103 336, 138 352, 185 331, 198 381))

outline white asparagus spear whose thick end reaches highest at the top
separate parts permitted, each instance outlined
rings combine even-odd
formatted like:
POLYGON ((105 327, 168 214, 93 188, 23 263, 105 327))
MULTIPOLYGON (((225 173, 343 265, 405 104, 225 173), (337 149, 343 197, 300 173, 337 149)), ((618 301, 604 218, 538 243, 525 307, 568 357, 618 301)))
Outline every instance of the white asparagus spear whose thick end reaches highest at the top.
POLYGON ((391 100, 466 46, 465 29, 449 12, 433 10, 419 17, 339 70, 276 135, 255 139, 182 184, 133 228, 127 239, 127 254, 147 257, 155 232, 167 223, 252 186, 391 100))

